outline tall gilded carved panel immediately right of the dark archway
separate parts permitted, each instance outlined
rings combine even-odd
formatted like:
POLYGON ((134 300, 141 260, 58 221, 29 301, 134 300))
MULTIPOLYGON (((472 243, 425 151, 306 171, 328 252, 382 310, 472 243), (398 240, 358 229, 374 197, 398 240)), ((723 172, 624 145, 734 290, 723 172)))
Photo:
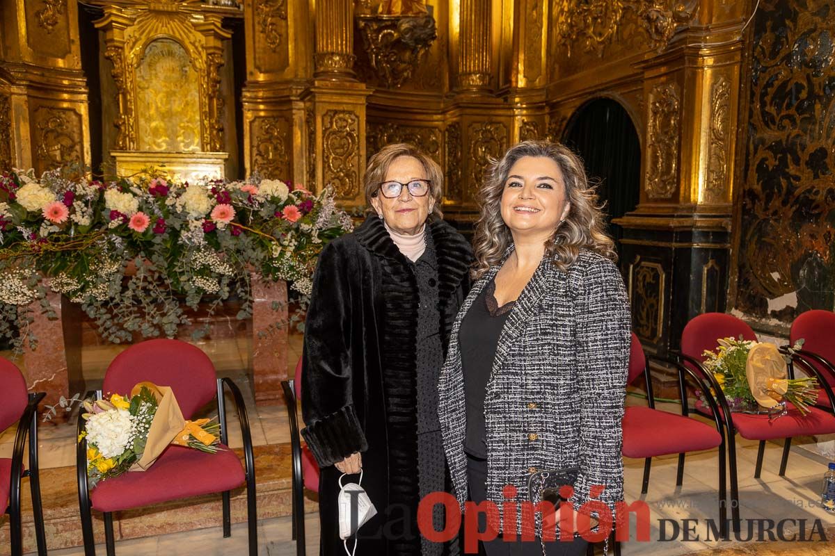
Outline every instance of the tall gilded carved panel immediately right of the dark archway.
POLYGON ((650 93, 645 187, 651 199, 670 198, 678 185, 680 105, 676 83, 650 93))

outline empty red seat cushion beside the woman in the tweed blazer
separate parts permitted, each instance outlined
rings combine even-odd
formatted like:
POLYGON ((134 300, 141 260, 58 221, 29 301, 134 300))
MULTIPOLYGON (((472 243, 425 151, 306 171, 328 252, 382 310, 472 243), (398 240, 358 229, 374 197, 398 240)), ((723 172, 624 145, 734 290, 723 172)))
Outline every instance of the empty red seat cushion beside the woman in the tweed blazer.
POLYGON ((716 448, 722 443, 716 427, 658 409, 626 408, 623 428, 622 452, 627 458, 696 452, 716 448))

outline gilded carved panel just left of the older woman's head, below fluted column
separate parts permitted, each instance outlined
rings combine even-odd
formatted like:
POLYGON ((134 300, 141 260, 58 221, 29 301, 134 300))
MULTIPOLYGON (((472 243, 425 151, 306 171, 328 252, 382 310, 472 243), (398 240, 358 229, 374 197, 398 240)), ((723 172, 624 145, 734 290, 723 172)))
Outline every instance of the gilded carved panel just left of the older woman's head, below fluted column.
POLYGON ((359 118, 347 110, 328 110, 321 120, 322 173, 325 187, 337 198, 353 199, 359 193, 359 118))

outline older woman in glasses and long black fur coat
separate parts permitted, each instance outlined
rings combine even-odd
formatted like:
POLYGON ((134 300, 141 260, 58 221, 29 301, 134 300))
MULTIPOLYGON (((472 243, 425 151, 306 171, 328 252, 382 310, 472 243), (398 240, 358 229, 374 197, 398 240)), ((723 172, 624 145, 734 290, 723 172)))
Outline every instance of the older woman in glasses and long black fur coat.
POLYGON ((343 553, 338 479, 361 469, 378 514, 357 553, 457 553, 421 537, 417 504, 445 490, 438 373, 472 250, 441 219, 441 169, 417 148, 383 148, 363 181, 372 210, 322 251, 305 324, 301 433, 321 467, 321 554, 343 553))

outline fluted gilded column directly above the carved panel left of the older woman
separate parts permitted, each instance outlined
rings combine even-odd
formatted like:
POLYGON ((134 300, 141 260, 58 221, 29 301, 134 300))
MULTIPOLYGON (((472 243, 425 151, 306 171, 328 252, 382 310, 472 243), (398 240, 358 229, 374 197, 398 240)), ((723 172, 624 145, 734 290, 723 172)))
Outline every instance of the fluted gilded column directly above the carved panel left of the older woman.
POLYGON ((326 0, 316 6, 316 78, 353 78, 354 3, 326 0))

